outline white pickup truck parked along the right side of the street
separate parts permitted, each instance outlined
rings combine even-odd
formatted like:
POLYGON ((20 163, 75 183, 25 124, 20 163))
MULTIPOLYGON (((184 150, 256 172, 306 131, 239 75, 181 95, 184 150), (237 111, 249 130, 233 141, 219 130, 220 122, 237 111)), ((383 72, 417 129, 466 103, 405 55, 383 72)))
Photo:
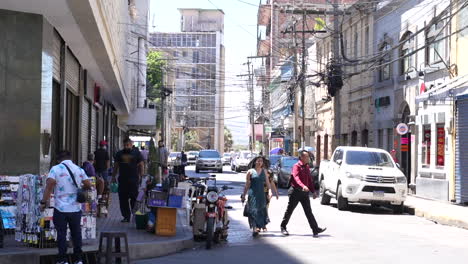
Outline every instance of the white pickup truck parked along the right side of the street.
POLYGON ((319 171, 321 204, 335 197, 338 210, 346 210, 348 203, 367 203, 403 212, 406 177, 385 150, 338 147, 332 160, 320 163, 319 171))

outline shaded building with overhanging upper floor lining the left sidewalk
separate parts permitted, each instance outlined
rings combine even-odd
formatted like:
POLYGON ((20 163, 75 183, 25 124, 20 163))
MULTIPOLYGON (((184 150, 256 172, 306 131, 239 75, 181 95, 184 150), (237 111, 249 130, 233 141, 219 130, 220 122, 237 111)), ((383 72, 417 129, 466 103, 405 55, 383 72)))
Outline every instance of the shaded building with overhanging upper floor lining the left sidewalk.
POLYGON ((146 0, 0 3, 0 174, 46 173, 60 149, 81 163, 100 140, 118 150, 145 96, 135 65, 146 30, 130 32, 147 10, 146 0))

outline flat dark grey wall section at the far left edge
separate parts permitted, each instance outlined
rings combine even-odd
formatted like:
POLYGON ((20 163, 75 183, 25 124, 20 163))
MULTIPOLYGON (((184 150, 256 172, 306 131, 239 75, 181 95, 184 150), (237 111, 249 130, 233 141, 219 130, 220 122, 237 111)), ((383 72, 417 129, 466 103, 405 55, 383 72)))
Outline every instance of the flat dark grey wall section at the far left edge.
POLYGON ((40 172, 43 23, 40 15, 0 10, 0 174, 40 172))

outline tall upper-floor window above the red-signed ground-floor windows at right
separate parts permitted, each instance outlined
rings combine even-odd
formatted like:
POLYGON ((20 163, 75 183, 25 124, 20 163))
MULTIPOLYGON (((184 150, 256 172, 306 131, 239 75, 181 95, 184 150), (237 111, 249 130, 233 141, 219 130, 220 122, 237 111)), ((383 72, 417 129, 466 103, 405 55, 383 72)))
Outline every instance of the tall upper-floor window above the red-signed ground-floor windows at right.
POLYGON ((426 62, 441 62, 446 56, 444 21, 434 23, 426 32, 426 62))

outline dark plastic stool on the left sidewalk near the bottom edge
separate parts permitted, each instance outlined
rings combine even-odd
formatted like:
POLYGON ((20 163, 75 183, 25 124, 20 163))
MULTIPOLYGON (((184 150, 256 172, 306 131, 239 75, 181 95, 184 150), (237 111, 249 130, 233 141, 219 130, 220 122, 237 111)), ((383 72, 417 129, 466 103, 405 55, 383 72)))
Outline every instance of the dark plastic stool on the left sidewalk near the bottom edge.
POLYGON ((123 232, 101 232, 99 236, 99 249, 98 249, 98 263, 101 263, 101 258, 105 258, 106 264, 111 263, 122 263, 122 257, 127 259, 127 263, 130 263, 130 254, 128 251, 128 239, 127 234, 123 232), (121 252, 120 239, 125 240, 125 252, 121 252), (103 252, 102 241, 106 239, 106 249, 103 252), (115 251, 112 250, 112 241, 114 241, 115 251), (115 261, 114 261, 115 259, 115 261))

